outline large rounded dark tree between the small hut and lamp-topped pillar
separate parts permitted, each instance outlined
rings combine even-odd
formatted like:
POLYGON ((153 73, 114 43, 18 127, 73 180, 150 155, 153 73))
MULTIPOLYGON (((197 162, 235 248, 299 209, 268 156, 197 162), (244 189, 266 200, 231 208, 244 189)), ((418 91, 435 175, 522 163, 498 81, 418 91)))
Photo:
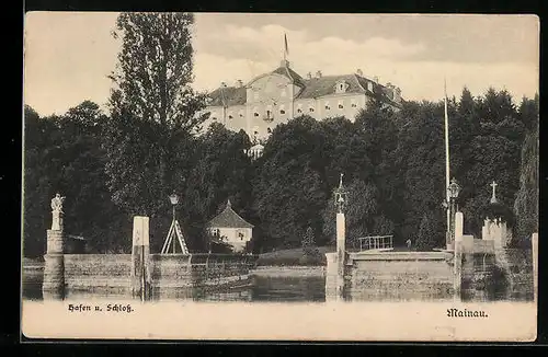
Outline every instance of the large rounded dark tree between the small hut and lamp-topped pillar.
POLYGON ((253 210, 267 237, 265 246, 296 247, 308 226, 321 230, 324 154, 324 136, 313 118, 274 129, 253 180, 253 210))

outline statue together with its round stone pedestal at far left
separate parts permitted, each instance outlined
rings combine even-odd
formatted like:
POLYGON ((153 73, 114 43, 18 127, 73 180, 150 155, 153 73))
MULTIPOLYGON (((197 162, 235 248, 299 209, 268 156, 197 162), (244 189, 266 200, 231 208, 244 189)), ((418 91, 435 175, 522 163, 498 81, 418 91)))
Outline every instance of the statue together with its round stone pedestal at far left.
POLYGON ((44 299, 65 298, 65 234, 62 224, 62 203, 65 197, 56 194, 52 199, 52 229, 47 230, 47 247, 44 255, 44 299))

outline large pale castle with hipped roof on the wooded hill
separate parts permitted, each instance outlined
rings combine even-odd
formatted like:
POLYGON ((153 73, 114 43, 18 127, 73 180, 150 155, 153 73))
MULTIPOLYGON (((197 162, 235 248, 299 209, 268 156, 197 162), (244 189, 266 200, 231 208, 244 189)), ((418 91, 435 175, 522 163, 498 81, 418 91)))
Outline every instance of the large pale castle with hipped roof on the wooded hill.
POLYGON ((318 71, 302 78, 284 59, 278 68, 247 84, 242 81, 232 87, 221 83, 209 93, 207 106, 201 113, 209 113, 204 128, 217 122, 235 131, 243 129, 250 138, 261 140, 267 138, 276 125, 301 115, 318 120, 338 116, 354 120, 374 93, 380 93, 386 105, 400 108, 399 88, 366 78, 359 69, 341 76, 322 76, 318 71))

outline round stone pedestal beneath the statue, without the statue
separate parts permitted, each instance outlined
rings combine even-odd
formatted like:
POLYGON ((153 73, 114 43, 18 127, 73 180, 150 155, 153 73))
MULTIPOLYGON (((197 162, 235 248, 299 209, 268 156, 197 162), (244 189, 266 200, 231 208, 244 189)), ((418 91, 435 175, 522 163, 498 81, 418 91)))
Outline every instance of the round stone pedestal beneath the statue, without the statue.
MULTIPOLYGON (((62 227, 60 227, 62 228, 62 227)), ((59 300, 65 298, 65 239, 62 229, 47 230, 47 250, 44 255, 44 281, 42 293, 44 299, 59 300)))

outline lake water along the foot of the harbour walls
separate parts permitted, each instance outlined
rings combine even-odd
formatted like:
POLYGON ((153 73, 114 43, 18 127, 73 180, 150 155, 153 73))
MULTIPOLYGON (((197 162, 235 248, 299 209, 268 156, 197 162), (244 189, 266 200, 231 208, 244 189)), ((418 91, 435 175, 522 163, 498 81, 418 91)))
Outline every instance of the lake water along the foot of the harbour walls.
MULTIPOLYGON (((468 277, 463 281, 464 301, 532 301, 533 272, 530 251, 505 250, 502 258, 489 260, 473 256, 468 264, 468 277)), ((25 268, 23 298, 42 300, 43 268, 25 268)), ((374 291, 354 290, 354 301, 393 300, 445 300, 452 298, 441 291, 374 291)), ((87 298, 127 299, 129 289, 117 291, 70 291, 67 300, 87 298)), ((249 279, 224 287, 156 288, 152 300, 194 301, 326 301, 326 277, 312 276, 251 276, 249 279)))

